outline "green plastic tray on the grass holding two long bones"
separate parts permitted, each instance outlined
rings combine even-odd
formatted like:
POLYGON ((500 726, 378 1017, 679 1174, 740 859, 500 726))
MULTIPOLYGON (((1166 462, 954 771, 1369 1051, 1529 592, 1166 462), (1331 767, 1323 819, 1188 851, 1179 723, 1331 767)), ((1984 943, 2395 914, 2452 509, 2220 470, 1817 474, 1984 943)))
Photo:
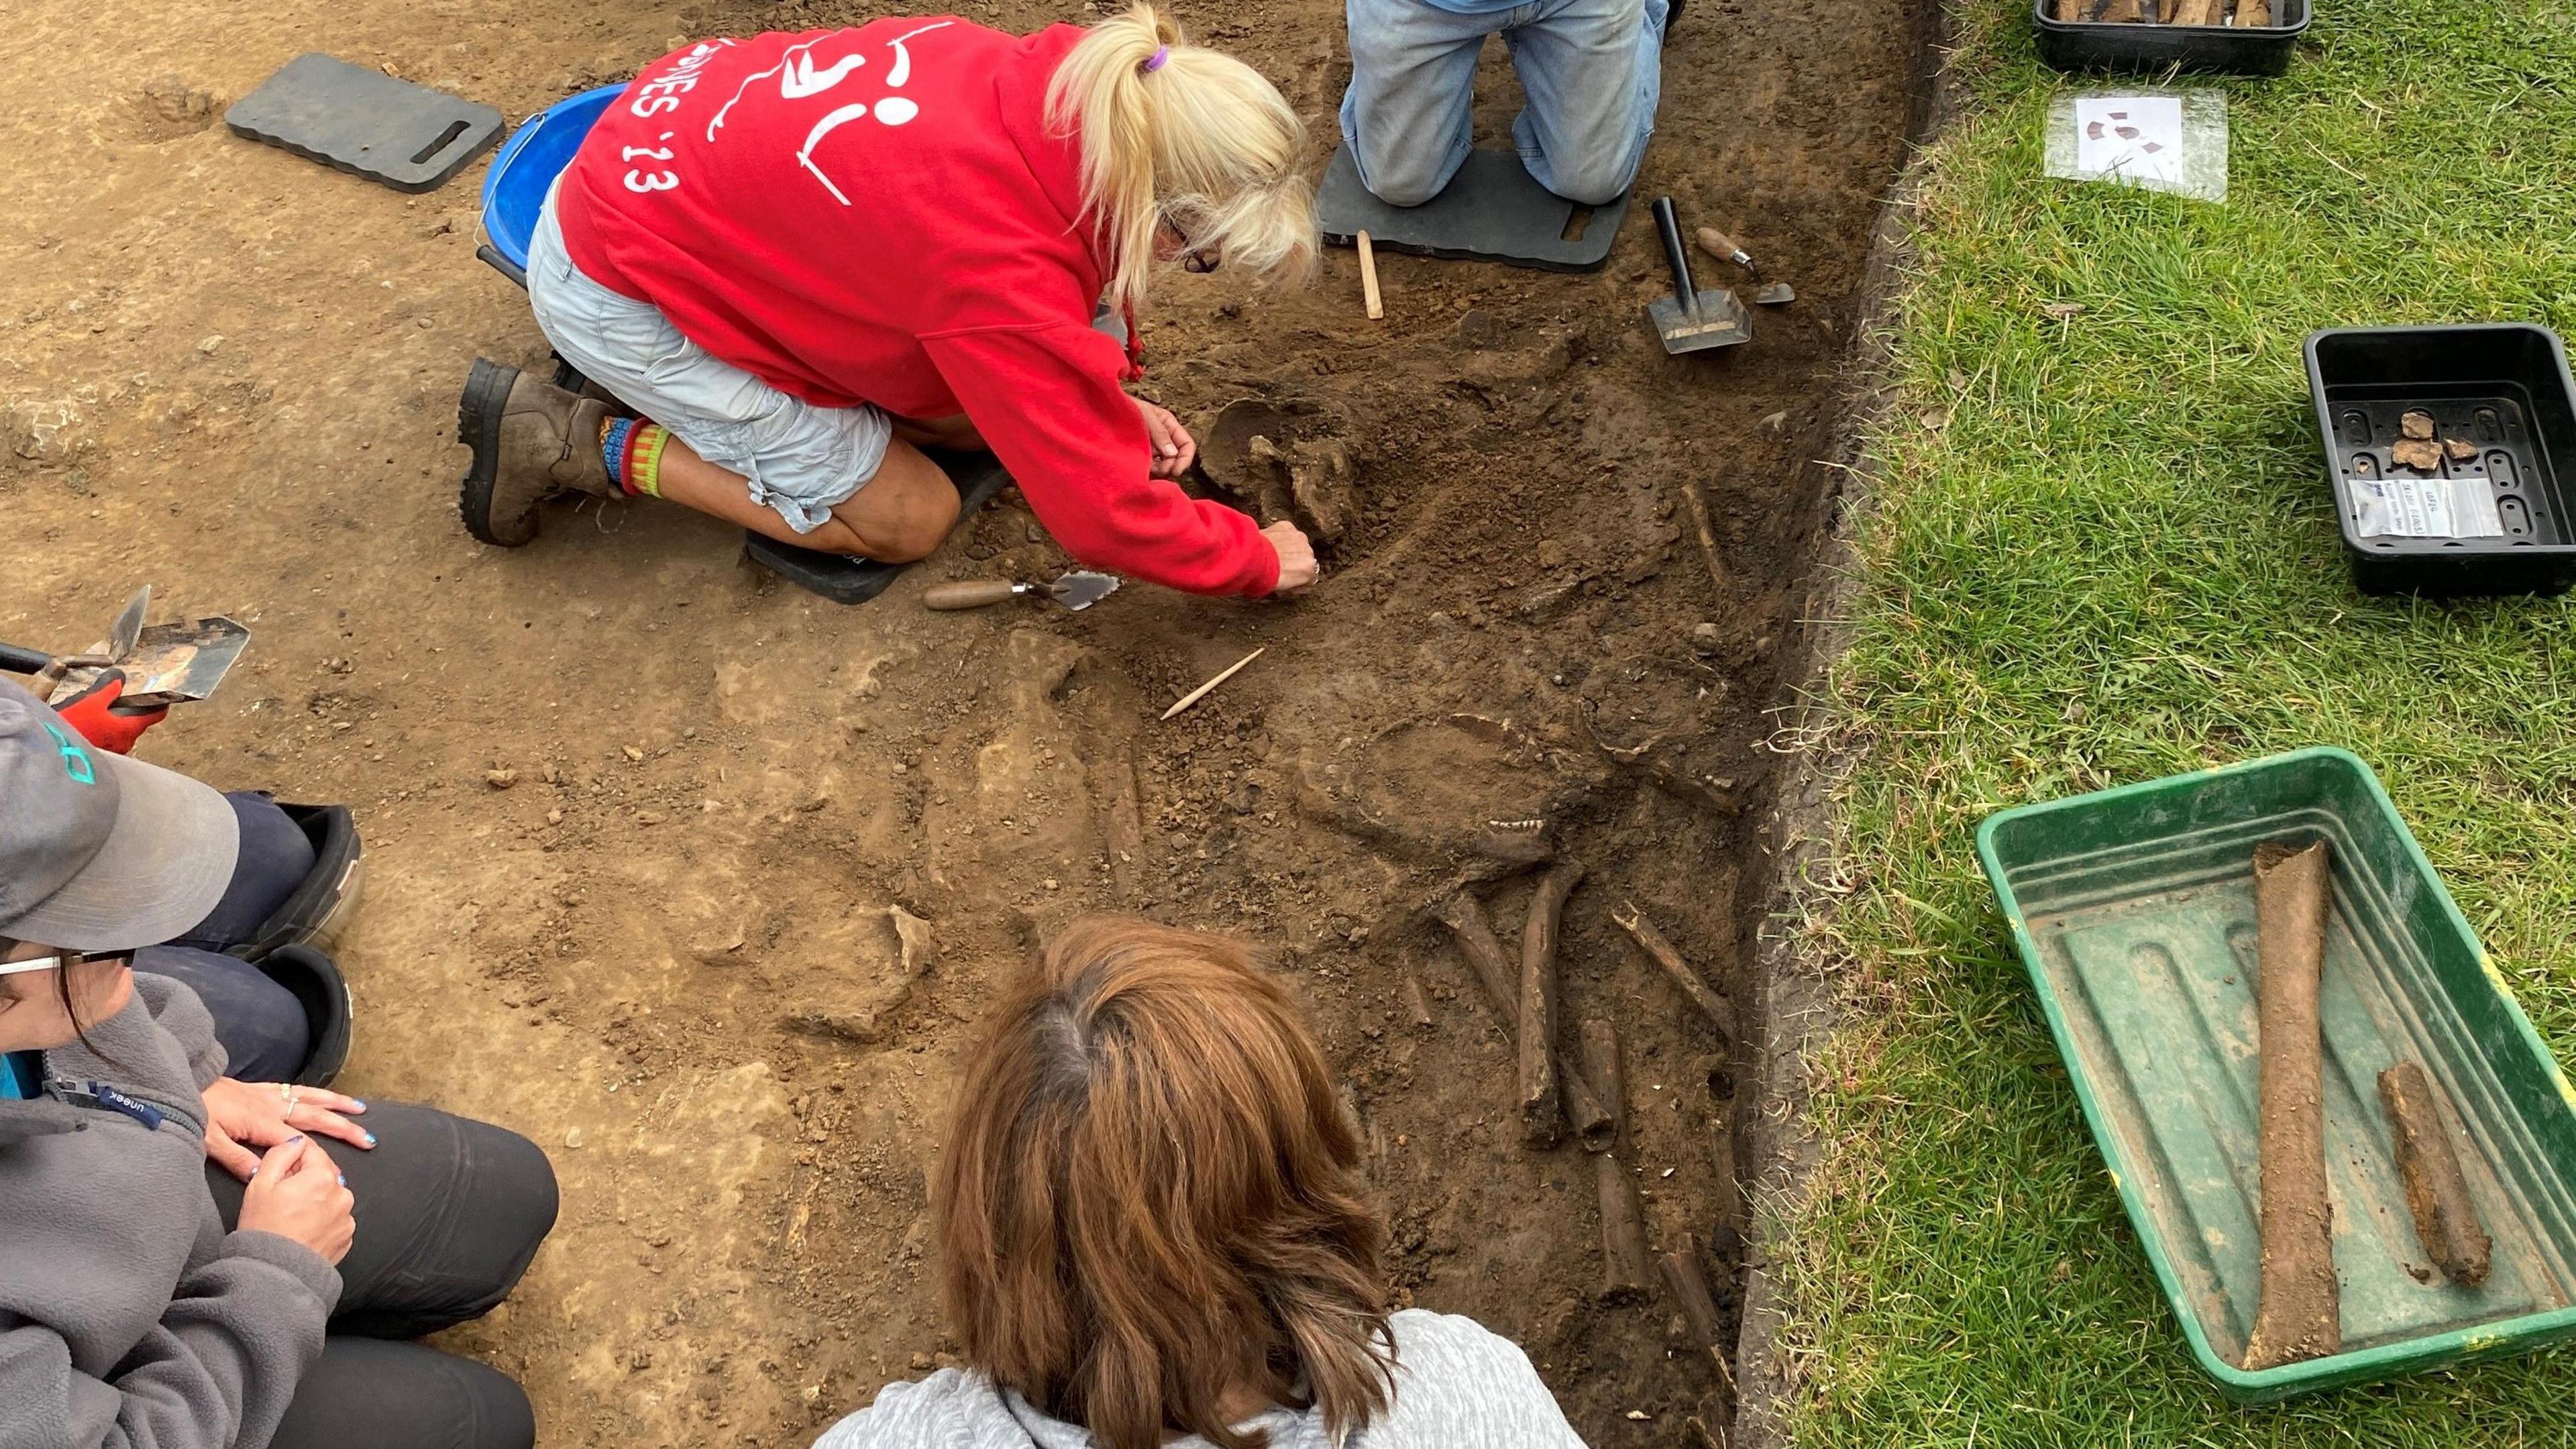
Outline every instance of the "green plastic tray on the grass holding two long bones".
POLYGON ((2084 1119, 2192 1356, 2239 1403, 2393 1379, 2576 1333, 2576 1096, 2347 750, 2295 750, 1991 815, 1976 853, 2084 1119), (2259 1287, 2254 846, 2334 846, 2326 1173, 2344 1351, 2246 1372, 2259 1287), (2378 1075, 2414 1057, 2496 1240, 2432 1274, 2378 1075))

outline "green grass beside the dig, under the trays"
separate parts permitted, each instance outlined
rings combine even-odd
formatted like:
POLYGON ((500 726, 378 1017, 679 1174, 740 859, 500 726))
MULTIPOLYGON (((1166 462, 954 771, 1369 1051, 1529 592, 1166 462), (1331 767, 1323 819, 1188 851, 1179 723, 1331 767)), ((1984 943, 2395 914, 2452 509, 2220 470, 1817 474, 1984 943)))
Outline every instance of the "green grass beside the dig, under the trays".
POLYGON ((2354 593, 2300 369, 2326 325, 2576 335, 2576 18, 2321 10, 2287 77, 2190 83, 2231 106, 2208 206, 2040 178, 2079 83, 2027 5, 1963 0, 1832 681, 1844 1013, 1785 1263, 1806 1446, 2576 1444, 2566 1356, 2228 1408, 1973 856, 2004 804, 2344 745, 2576 1052, 2576 603, 2354 593))

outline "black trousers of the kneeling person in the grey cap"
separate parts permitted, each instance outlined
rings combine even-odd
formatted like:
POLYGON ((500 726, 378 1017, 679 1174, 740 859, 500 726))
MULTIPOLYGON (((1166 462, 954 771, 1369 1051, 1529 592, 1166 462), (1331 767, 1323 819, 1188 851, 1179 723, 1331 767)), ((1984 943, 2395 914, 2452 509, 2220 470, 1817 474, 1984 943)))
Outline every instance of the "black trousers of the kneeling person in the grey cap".
MULTIPOLYGON (((270 1449, 531 1449, 528 1395, 505 1374, 404 1343, 510 1297, 554 1227, 554 1168, 515 1132, 425 1106, 371 1104, 376 1150, 322 1142, 358 1199, 340 1307, 270 1449)), ((224 1225, 242 1183, 206 1165, 224 1225)))

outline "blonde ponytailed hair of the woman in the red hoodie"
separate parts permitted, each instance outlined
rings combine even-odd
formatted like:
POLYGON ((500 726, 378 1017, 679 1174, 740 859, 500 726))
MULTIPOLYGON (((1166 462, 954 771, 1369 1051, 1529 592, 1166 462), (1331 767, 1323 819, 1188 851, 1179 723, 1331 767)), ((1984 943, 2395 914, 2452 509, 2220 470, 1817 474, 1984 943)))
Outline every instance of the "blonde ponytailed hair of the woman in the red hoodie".
POLYGON ((1074 44, 1046 88, 1046 121, 1082 142, 1082 199, 1110 258, 1113 304, 1144 299, 1162 217, 1193 250, 1265 278, 1314 271, 1306 124, 1257 70, 1182 44, 1151 5, 1074 44))

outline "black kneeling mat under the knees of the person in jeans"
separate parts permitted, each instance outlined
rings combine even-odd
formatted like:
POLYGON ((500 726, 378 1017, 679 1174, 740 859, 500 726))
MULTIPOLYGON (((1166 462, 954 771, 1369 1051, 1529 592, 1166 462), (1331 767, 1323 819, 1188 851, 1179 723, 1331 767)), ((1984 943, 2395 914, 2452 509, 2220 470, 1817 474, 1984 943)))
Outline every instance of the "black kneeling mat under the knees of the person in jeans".
POLYGON ((1360 186, 1360 168, 1350 160, 1350 147, 1342 147, 1324 168, 1314 214, 1324 240, 1340 248, 1368 232, 1378 250, 1597 271, 1610 260, 1610 242, 1628 217, 1628 193, 1579 206, 1530 180, 1517 152, 1468 152, 1440 196, 1422 206, 1388 206, 1360 186), (1574 227, 1577 211, 1587 211, 1582 227, 1574 227))

